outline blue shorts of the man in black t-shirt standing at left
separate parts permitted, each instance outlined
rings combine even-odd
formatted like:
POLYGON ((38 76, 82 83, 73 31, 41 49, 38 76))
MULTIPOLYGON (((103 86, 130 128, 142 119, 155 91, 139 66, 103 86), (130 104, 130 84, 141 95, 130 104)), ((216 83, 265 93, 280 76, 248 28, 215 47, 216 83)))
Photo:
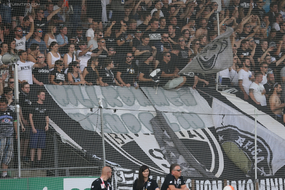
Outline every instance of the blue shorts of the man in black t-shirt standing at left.
POLYGON ((32 149, 44 149, 46 148, 46 131, 42 129, 36 129, 37 133, 30 132, 30 148, 32 149))

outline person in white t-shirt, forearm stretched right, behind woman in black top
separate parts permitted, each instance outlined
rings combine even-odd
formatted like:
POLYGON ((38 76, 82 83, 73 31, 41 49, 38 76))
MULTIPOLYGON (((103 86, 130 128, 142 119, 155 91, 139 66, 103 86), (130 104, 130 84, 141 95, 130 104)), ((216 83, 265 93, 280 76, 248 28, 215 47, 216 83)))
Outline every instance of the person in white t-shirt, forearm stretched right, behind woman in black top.
POLYGON ((86 42, 79 42, 80 50, 77 50, 75 55, 77 56, 77 60, 80 60, 80 70, 83 71, 85 67, 87 67, 87 61, 91 57, 98 57, 102 53, 102 49, 100 49, 97 53, 92 53, 90 50, 93 48, 91 44, 88 48, 86 42))

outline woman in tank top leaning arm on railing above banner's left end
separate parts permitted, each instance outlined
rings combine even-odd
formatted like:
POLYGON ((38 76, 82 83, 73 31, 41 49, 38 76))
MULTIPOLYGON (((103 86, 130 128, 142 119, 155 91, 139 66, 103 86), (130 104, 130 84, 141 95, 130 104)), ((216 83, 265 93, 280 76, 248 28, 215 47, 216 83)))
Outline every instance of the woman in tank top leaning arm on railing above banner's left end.
POLYGON ((67 79, 68 83, 71 85, 92 85, 92 83, 88 83, 84 80, 79 67, 79 62, 77 61, 69 63, 67 79))

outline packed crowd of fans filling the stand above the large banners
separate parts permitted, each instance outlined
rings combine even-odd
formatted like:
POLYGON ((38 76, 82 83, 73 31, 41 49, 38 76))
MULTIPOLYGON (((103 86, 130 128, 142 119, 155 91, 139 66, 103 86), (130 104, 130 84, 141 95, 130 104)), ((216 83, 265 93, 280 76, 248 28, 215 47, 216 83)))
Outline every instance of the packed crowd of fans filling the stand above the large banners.
MULTIPOLYGON (((243 100, 284 123, 284 1, 20 2, 1 1, 0 60, 4 53, 17 57, 25 96, 32 84, 175 90, 213 86, 216 74, 178 72, 218 36, 219 25, 220 34, 227 27, 234 32, 233 55, 228 55, 233 65, 218 73, 218 83, 238 89, 243 100)), ((13 65, 0 63, 0 94, 13 109, 13 65)), ((27 106, 21 105, 23 127, 31 126, 27 106)), ((28 139, 22 143, 23 159, 27 159, 28 139)))

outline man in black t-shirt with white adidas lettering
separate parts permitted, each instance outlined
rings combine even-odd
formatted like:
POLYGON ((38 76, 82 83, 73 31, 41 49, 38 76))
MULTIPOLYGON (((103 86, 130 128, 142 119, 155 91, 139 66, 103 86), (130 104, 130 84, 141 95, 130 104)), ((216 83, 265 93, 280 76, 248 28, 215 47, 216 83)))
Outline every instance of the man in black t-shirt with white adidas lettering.
POLYGON ((37 63, 41 65, 41 68, 35 68, 32 71, 33 81, 34 83, 43 86, 44 84, 48 84, 48 74, 49 74, 49 68, 48 65, 45 63, 44 54, 40 53, 37 56, 37 63))

